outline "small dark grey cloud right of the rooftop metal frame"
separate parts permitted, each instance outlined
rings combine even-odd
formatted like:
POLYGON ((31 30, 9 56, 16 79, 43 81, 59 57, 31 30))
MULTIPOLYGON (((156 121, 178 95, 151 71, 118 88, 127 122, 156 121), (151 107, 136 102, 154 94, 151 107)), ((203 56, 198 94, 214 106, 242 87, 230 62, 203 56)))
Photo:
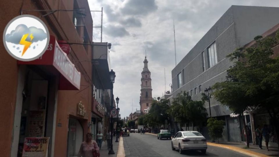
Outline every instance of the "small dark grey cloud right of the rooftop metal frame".
POLYGON ((104 26, 103 31, 111 37, 124 37, 129 35, 129 32, 122 26, 108 25, 104 26))

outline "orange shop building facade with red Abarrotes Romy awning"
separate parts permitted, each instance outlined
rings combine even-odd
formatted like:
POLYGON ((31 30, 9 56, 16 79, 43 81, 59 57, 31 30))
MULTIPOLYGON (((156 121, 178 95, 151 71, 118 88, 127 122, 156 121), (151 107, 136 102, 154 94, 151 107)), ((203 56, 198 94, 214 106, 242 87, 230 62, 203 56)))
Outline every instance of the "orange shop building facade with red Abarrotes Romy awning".
POLYGON ((92 44, 93 23, 86 0, 3 1, 1 10, 7 16, 2 18, 1 30, 21 13, 36 17, 47 14, 25 10, 78 8, 85 10, 86 21, 73 11, 58 11, 41 18, 51 39, 47 51, 37 60, 19 62, 0 45, 3 74, 0 122, 5 126, 0 129, 5 135, 0 138, 1 156, 21 156, 25 137, 49 137, 48 156, 76 156, 85 134, 91 131, 88 122, 92 95, 91 62, 78 61, 91 60, 92 49, 87 45, 67 44, 70 50, 65 53, 60 42, 92 44))

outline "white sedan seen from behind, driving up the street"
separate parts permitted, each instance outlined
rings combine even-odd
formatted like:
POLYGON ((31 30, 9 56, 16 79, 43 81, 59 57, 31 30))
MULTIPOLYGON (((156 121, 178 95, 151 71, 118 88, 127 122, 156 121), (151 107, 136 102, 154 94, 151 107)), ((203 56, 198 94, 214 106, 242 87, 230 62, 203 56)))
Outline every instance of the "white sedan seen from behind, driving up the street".
POLYGON ((184 150, 200 150, 202 154, 206 153, 206 139, 198 131, 179 131, 172 136, 171 149, 179 149, 182 154, 184 150))

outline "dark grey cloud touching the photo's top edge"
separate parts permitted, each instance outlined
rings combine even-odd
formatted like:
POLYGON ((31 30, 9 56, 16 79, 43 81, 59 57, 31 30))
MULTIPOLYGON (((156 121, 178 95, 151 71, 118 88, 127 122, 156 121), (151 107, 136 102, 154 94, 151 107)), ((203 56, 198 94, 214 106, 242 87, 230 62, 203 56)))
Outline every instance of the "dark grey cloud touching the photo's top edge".
POLYGON ((155 0, 129 0, 121 12, 124 15, 147 15, 157 9, 155 0))

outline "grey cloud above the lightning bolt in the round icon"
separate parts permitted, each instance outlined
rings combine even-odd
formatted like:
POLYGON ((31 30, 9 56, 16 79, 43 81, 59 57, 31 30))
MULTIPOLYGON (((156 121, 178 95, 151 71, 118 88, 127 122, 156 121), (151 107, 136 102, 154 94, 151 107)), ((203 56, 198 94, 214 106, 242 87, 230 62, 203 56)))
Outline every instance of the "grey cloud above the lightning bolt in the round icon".
MULTIPOLYGON (((19 24, 15 30, 12 30, 10 34, 6 35, 6 42, 11 42, 14 44, 19 44, 22 36, 24 34, 33 34, 33 42, 42 41, 47 38, 47 33, 45 33, 42 29, 36 27, 27 27, 25 24, 19 24)), ((30 35, 26 39, 31 41, 30 35)))

